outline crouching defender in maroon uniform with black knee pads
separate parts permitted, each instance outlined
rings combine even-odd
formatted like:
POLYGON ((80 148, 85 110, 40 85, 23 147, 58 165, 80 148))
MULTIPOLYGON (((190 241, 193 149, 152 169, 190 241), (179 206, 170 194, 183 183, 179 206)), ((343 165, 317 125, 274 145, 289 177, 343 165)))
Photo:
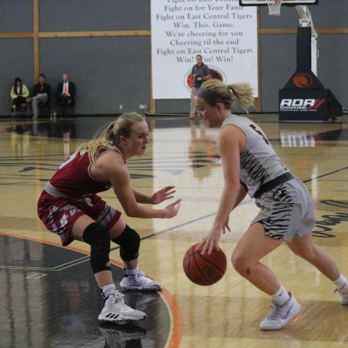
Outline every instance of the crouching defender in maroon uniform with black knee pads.
POLYGON ((132 189, 127 160, 143 155, 148 144, 148 125, 138 113, 124 113, 101 136, 79 146, 47 182, 38 201, 38 216, 61 237, 63 246, 74 239, 90 244, 90 264, 102 290, 105 306, 98 319, 109 322, 140 320, 145 313, 127 306, 116 290, 109 262, 110 242, 120 245, 125 264, 123 290, 161 290, 161 284, 138 269, 140 237, 120 218, 120 212, 106 205, 96 193, 113 188, 128 216, 171 219, 180 200, 165 209, 139 203, 159 204, 173 198, 173 186, 152 196, 132 189))

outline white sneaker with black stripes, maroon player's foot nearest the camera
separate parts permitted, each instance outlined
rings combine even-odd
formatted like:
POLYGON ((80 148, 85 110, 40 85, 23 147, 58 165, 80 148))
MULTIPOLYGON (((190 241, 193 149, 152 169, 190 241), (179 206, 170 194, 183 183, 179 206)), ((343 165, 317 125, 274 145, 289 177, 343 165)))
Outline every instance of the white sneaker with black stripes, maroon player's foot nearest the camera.
POLYGON ((117 290, 113 290, 106 299, 98 320, 105 322, 127 322, 129 320, 145 319, 145 317, 145 313, 127 306, 125 301, 123 301, 122 294, 117 290))

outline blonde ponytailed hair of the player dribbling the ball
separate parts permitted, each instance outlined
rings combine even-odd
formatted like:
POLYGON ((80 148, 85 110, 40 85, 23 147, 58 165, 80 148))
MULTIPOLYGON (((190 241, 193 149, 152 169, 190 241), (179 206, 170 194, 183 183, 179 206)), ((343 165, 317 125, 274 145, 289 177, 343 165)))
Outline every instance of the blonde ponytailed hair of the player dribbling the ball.
MULTIPOLYGON (((209 93, 209 95, 212 95, 210 99, 216 99, 214 104, 212 104, 212 100, 206 100, 208 104, 213 106, 216 105, 217 102, 222 102, 226 106, 226 109, 230 109, 231 104, 235 102, 235 100, 239 102, 246 112, 248 112, 248 108, 254 106, 253 88, 251 88, 251 85, 248 83, 226 85, 218 79, 212 79, 205 81, 200 88, 209 93)), ((205 99, 204 93, 203 95, 199 95, 199 93, 197 95, 205 99)))

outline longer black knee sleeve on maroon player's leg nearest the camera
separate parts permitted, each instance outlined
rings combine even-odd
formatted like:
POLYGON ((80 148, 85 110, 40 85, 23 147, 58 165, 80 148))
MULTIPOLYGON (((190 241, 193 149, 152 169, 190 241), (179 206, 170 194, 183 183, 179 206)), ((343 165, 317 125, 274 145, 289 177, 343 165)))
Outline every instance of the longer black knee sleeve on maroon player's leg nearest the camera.
POLYGON ((100 223, 93 222, 86 227, 84 241, 90 244, 90 266, 94 273, 110 271, 110 235, 109 230, 100 223))

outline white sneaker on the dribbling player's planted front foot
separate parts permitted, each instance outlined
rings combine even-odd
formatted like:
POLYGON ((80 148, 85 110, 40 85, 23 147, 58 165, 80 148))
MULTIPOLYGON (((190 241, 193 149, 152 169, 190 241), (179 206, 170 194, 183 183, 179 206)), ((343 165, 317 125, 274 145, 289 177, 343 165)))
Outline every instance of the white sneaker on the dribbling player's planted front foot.
POLYGON ((260 329, 262 330, 279 330, 289 324, 292 319, 299 315, 301 306, 299 302, 294 299, 290 294, 289 301, 285 302, 282 306, 272 302, 271 310, 269 311, 267 318, 263 319, 260 323, 260 329))

